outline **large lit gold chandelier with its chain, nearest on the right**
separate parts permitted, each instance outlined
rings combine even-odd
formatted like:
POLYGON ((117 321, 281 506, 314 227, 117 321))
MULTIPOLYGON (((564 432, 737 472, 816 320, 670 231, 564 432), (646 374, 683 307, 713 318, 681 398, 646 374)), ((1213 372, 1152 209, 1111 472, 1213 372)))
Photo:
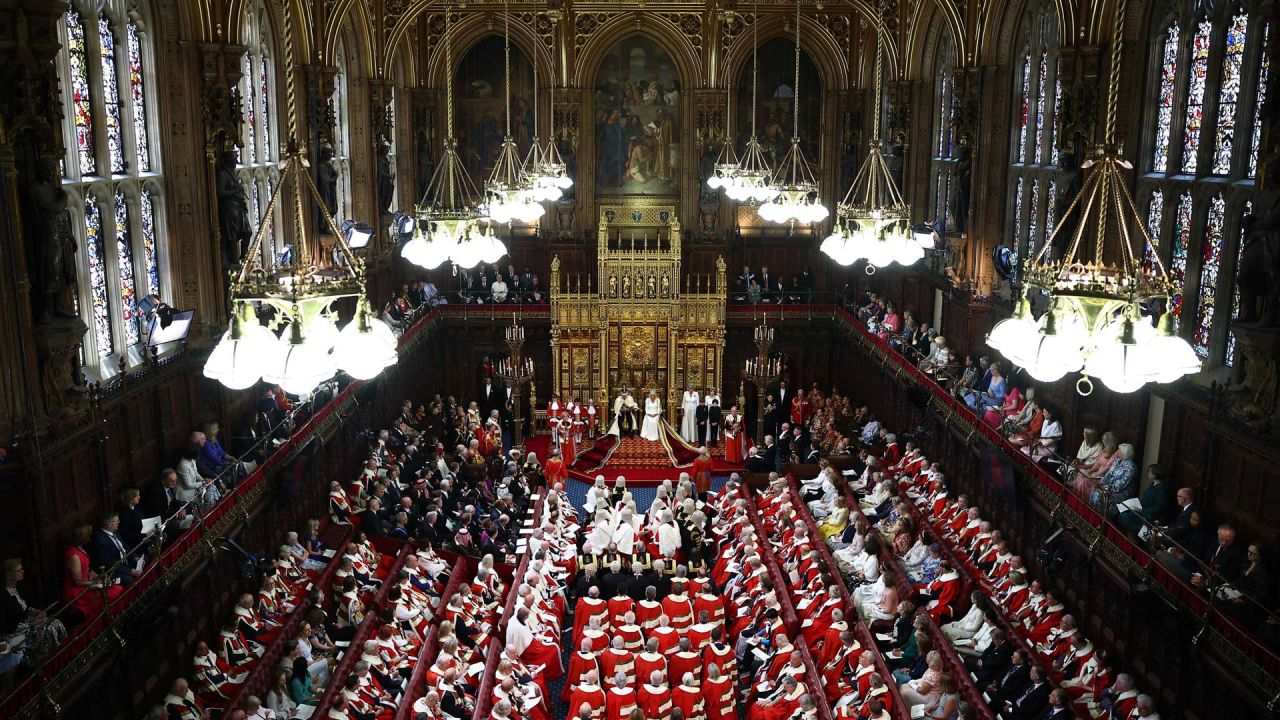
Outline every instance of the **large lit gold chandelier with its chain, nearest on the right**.
POLYGON ((1080 395, 1093 392, 1091 377, 1115 392, 1133 392, 1148 382, 1170 383, 1201 368, 1196 351, 1174 333, 1169 297, 1176 287, 1121 174, 1133 168, 1120 158, 1115 138, 1125 9, 1126 1, 1120 0, 1112 27, 1103 145, 1084 163, 1092 172, 1062 220, 1024 260, 1027 287, 1014 316, 992 328, 987 338, 987 345, 1038 380, 1053 382, 1080 372, 1080 395), (1073 217, 1075 222, 1068 222, 1073 217), (1066 252, 1055 260, 1053 241, 1068 234, 1066 252), (1142 250, 1135 252, 1134 247, 1142 250), (1048 310, 1038 320, 1030 310, 1036 291, 1048 295, 1048 310), (1143 305, 1151 301, 1164 302, 1158 327, 1143 318, 1143 305))

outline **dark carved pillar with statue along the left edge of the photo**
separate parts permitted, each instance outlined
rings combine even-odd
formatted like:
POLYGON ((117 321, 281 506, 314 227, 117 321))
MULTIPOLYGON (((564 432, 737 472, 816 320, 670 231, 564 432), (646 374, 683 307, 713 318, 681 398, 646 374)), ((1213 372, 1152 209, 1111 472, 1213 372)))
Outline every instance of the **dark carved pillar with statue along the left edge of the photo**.
POLYGON ((86 325, 74 314, 76 241, 63 156, 54 60, 65 8, 28 3, 0 9, 0 441, 69 425, 83 410, 72 366, 86 325))

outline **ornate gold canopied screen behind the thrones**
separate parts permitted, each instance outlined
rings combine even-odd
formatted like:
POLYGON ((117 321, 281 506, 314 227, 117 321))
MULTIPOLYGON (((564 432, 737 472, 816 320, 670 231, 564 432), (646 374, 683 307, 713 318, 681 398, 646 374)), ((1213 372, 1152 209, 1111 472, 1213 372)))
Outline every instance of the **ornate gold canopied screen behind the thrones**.
POLYGON ((556 392, 612 402, 626 387, 657 389, 668 419, 681 392, 721 387, 724 260, 714 275, 681 275, 676 208, 602 205, 594 278, 562 275, 552 259, 556 392))

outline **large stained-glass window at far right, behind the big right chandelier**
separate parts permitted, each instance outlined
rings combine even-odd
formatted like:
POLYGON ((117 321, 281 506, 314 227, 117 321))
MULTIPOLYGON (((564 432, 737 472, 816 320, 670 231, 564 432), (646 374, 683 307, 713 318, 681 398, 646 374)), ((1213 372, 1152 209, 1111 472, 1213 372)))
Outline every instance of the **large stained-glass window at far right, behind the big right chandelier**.
POLYGON ((1176 283, 1175 324, 1210 366, 1230 364, 1226 324, 1235 316, 1238 263, 1229 260, 1239 254, 1240 219, 1258 172, 1270 28, 1240 5, 1206 12, 1190 0, 1176 0, 1153 24, 1153 111, 1143 133, 1151 140, 1142 147, 1138 192, 1149 199, 1149 229, 1176 283))

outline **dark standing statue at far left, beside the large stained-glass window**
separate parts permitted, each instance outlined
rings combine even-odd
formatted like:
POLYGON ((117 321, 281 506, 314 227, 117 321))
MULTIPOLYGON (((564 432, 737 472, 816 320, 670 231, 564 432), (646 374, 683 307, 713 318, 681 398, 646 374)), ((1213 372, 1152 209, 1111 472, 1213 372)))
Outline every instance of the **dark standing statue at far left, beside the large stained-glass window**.
POLYGON ((68 196, 58 177, 58 163, 41 159, 40 177, 26 190, 32 258, 36 264, 36 287, 40 305, 36 315, 41 323, 54 318, 74 318, 70 293, 76 288, 76 238, 68 196))

